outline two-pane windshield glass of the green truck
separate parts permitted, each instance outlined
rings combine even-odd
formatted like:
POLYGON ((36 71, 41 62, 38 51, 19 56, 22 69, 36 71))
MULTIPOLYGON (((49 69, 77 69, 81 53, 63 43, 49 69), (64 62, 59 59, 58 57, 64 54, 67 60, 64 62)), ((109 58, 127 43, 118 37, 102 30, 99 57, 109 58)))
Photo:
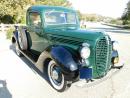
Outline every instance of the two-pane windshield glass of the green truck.
POLYGON ((45 13, 45 23, 47 25, 76 24, 76 15, 75 13, 49 11, 45 13))

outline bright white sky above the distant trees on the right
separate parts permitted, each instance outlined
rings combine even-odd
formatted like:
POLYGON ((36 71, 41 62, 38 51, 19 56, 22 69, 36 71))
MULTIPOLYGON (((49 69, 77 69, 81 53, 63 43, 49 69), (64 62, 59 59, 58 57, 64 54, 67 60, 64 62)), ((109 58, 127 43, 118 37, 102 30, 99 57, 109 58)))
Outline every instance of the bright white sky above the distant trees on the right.
POLYGON ((69 0, 81 13, 99 14, 118 18, 123 14, 129 0, 69 0))

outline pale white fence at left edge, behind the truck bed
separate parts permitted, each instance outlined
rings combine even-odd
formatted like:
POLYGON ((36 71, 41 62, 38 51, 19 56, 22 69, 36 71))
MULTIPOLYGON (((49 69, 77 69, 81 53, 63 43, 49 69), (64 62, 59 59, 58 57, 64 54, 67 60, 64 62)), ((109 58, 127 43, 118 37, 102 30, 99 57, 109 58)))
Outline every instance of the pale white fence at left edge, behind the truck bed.
POLYGON ((25 24, 0 24, 0 32, 6 32, 10 28, 14 28, 14 26, 25 26, 25 24))

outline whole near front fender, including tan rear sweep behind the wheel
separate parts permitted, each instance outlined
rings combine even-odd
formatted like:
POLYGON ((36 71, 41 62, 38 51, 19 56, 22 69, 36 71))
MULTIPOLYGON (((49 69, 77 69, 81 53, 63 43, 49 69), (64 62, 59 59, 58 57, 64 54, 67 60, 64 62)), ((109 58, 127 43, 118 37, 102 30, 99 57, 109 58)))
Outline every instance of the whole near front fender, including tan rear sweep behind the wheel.
POLYGON ((36 62, 36 66, 41 72, 44 72, 44 69, 46 69, 46 54, 49 54, 49 58, 53 59, 60 66, 67 81, 78 79, 79 65, 68 49, 64 46, 49 46, 43 51, 36 62))

